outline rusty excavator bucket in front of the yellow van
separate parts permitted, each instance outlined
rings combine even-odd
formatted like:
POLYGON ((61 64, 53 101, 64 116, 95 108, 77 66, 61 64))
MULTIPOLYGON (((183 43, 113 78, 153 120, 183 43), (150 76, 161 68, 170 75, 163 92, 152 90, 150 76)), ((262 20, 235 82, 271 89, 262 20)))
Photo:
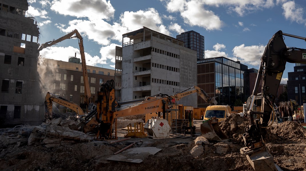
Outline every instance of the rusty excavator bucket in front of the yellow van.
POLYGON ((218 119, 213 117, 207 121, 204 121, 201 124, 201 133, 202 136, 207 140, 214 141, 228 141, 228 137, 221 131, 221 128, 218 124, 218 119))

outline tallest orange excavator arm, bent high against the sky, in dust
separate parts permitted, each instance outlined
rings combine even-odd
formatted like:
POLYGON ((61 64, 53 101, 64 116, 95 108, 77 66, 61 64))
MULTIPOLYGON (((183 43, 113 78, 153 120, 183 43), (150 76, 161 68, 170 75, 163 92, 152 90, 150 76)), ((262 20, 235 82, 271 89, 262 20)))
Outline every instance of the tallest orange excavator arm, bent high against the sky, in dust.
POLYGON ((72 32, 66 34, 63 37, 60 37, 56 40, 53 39, 53 41, 48 41, 44 44, 42 44, 38 49, 37 52, 39 53, 44 48, 50 47, 52 45, 55 45, 63 40, 71 39, 71 38, 78 38, 79 41, 79 48, 80 48, 80 54, 81 54, 81 62, 82 62, 82 70, 83 70, 83 79, 84 79, 84 103, 89 105, 89 103, 92 102, 92 96, 91 91, 89 87, 89 81, 88 81, 88 73, 87 73, 87 66, 86 66, 86 60, 85 60, 85 53, 84 53, 84 45, 83 45, 83 37, 80 35, 78 30, 73 30, 72 32), (75 36, 73 36, 75 34, 75 36))

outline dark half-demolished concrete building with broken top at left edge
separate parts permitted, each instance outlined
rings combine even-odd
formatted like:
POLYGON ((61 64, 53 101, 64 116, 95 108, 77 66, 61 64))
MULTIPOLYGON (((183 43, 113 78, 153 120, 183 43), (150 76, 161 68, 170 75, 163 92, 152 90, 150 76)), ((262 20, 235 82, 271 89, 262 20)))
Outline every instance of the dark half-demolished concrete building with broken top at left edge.
POLYGON ((44 98, 37 72, 36 22, 25 17, 27 0, 0 0, 0 125, 43 121, 44 98))

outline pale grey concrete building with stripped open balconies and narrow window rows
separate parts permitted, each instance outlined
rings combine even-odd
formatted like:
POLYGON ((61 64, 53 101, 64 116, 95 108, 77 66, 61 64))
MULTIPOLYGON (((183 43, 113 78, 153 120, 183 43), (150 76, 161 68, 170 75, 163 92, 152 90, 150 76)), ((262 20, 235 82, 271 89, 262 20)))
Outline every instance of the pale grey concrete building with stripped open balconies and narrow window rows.
MULTIPOLYGON (((195 86, 197 52, 183 45, 183 41, 147 27, 123 34, 122 48, 116 47, 115 67, 120 100, 173 95, 195 86), (129 40, 124 42, 125 38, 129 40)), ((196 94, 179 103, 196 107, 196 94)))

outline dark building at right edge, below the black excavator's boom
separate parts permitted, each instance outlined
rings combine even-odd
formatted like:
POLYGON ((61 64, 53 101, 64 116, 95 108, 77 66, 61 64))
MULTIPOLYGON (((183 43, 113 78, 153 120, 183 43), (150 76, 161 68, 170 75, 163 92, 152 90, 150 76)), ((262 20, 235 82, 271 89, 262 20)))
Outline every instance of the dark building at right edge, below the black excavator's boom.
POLYGON ((297 63, 294 72, 288 73, 288 99, 296 100, 299 105, 306 103, 306 65, 297 63))

